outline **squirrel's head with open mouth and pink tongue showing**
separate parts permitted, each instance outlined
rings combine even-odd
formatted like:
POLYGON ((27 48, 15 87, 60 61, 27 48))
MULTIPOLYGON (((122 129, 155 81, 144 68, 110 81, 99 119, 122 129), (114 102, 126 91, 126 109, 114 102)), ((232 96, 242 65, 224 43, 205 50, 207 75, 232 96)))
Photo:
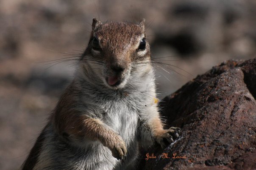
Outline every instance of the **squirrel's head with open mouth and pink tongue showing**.
POLYGON ((81 61, 107 87, 123 88, 129 78, 138 76, 138 71, 148 71, 146 68, 151 66, 145 19, 134 24, 102 23, 94 18, 89 44, 81 61))

